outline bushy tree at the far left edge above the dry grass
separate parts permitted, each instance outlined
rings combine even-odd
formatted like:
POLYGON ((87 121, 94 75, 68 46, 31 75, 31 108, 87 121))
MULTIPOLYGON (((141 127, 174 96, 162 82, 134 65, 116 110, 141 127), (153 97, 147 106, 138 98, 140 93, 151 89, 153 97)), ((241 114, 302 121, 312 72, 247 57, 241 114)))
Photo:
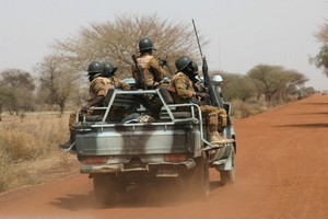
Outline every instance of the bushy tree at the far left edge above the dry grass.
POLYGON ((20 69, 7 69, 1 72, 2 106, 19 114, 20 110, 34 108, 35 90, 31 73, 20 69))

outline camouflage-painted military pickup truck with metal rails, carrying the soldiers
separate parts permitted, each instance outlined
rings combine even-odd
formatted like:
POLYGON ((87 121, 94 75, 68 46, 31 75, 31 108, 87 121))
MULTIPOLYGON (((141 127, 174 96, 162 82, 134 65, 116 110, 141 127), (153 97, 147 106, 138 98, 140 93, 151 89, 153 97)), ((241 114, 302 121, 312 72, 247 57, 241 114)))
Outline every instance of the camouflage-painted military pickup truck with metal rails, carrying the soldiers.
POLYGON ((199 106, 175 104, 166 89, 109 90, 106 106, 93 107, 102 111, 99 115, 83 116, 82 120, 77 117, 74 153, 80 172, 93 180, 96 198, 112 203, 128 186, 145 181, 156 184, 164 178, 175 178, 206 197, 210 193, 210 168, 220 172, 222 183, 233 183, 235 131, 231 105, 221 95, 221 82, 222 78, 215 76, 211 84, 220 107, 227 112, 227 126, 219 130, 231 139, 225 143, 211 145, 199 106), (150 116, 144 100, 160 103, 160 118, 150 116))

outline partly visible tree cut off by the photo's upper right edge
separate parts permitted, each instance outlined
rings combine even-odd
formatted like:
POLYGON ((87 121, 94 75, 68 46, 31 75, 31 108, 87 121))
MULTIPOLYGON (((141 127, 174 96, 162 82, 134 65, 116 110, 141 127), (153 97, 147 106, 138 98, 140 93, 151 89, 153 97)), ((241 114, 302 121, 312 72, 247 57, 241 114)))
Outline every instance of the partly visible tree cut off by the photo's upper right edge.
POLYGON ((319 53, 309 60, 317 68, 324 69, 324 73, 328 77, 328 23, 325 23, 315 36, 321 42, 321 47, 319 53))

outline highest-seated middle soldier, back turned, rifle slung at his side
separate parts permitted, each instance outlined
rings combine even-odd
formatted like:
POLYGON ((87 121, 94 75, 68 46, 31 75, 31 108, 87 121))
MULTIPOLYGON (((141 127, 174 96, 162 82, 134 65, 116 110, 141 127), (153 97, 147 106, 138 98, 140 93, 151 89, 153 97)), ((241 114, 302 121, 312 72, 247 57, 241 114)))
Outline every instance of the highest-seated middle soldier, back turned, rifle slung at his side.
MULTIPOLYGON (((161 81, 167 76, 166 70, 162 68, 165 62, 160 61, 152 55, 153 49, 153 43, 151 39, 141 38, 139 41, 140 56, 137 58, 137 62, 143 71, 145 89, 159 88, 161 81)), ((137 66, 132 66, 132 74, 136 82, 140 84, 141 78, 137 66)), ((141 85, 143 87, 143 84, 141 85)))

